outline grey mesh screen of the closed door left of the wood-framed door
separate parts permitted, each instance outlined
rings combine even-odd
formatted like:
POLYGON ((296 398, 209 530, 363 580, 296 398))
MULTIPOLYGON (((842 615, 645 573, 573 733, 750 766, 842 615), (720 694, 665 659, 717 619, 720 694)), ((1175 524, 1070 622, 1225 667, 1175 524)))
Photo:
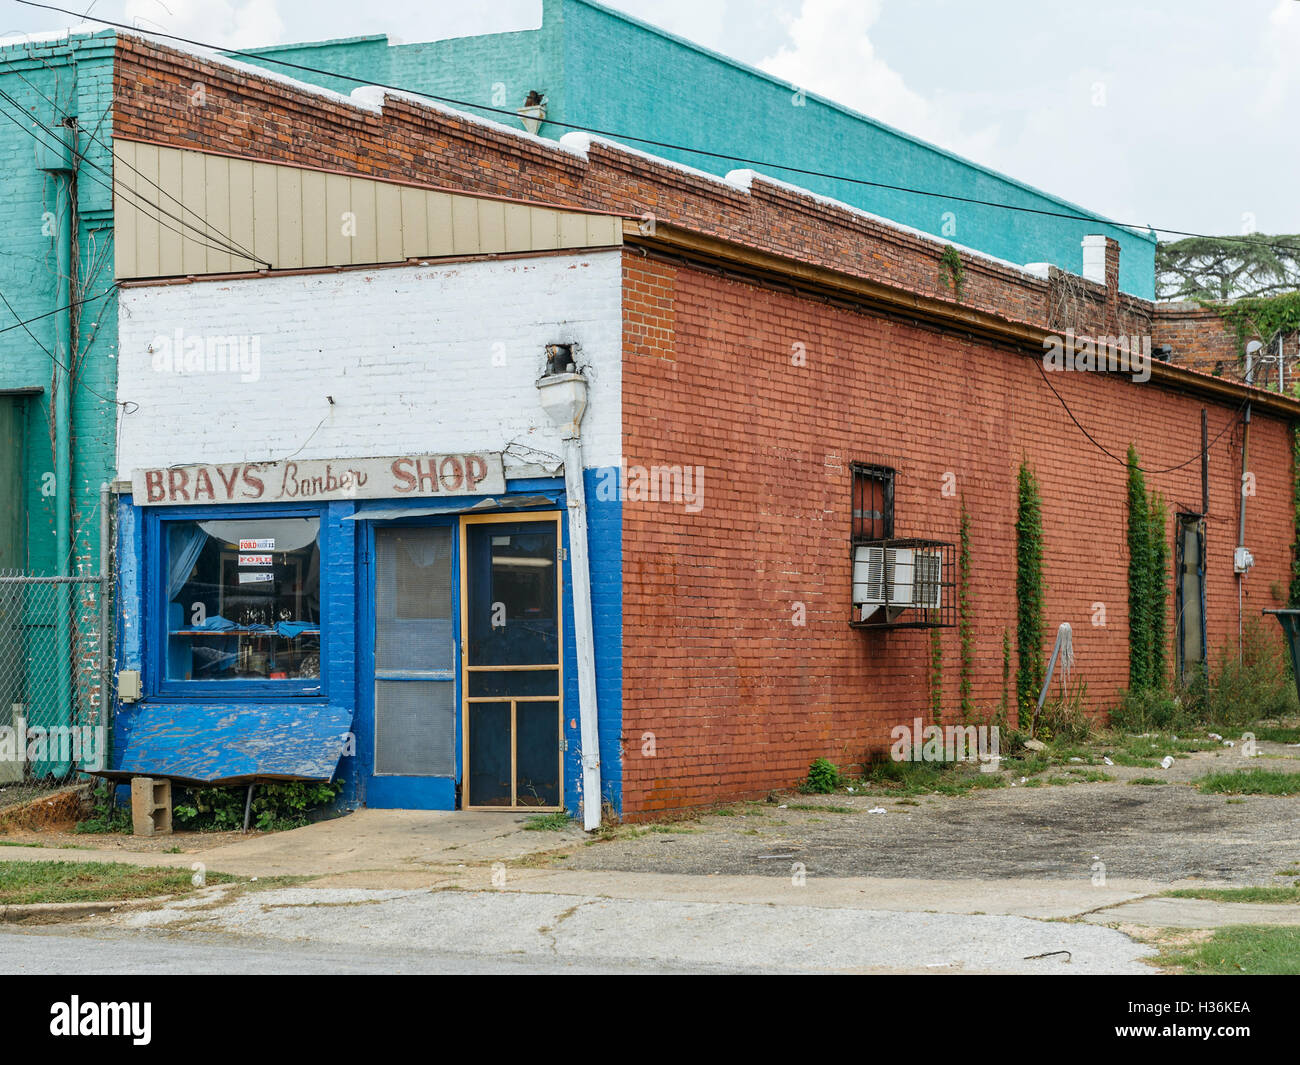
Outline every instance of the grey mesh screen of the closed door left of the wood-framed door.
POLYGON ((374 531, 374 772, 455 776, 451 528, 374 531))

